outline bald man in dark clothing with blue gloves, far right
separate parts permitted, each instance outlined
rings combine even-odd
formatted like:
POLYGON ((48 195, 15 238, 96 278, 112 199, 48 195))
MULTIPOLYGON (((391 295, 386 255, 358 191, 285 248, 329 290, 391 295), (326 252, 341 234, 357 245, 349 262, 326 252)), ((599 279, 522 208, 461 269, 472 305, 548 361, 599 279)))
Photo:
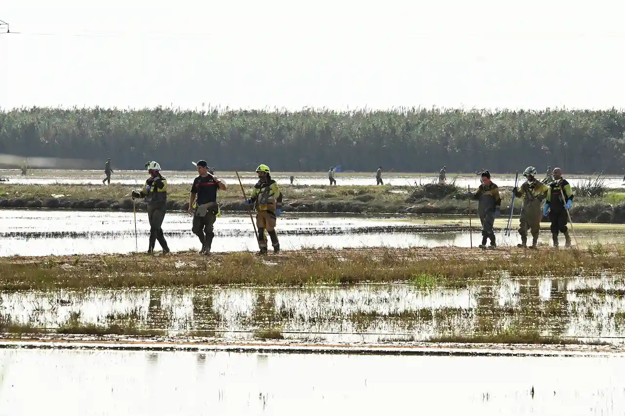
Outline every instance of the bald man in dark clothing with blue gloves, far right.
POLYGON ((569 222, 569 214, 567 210, 571 209, 573 203, 573 192, 571 185, 562 177, 562 169, 556 167, 553 170, 554 181, 549 184, 547 191, 547 201, 545 202, 542 215, 547 216, 549 211, 549 220, 551 221, 551 236, 553 237, 553 247, 557 249, 558 234, 564 234, 564 247, 571 247, 571 236, 566 227, 569 222))

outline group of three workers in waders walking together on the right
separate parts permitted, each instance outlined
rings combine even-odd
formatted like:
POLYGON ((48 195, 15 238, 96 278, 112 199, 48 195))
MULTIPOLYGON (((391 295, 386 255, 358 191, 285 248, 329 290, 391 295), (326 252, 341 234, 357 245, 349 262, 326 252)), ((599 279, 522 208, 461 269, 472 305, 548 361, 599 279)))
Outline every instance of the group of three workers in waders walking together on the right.
MULTIPOLYGON (((571 235, 567 228, 570 220, 568 210, 571 209, 573 192, 571 185, 562 177, 562 169, 556 167, 551 172, 551 181, 544 184, 536 179, 536 168, 527 167, 523 172, 526 181, 520 187, 512 188, 512 193, 517 198, 522 198, 521 215, 519 216, 519 234, 521 243, 518 247, 527 247, 527 232, 532 235, 532 244, 529 246, 535 249, 540 233, 542 217, 549 217, 551 221, 551 237, 555 248, 559 245, 559 234, 564 235, 564 245, 571 246, 571 235), (542 201, 544 206, 542 206, 542 201), (542 207, 542 209, 541 209, 542 207)), ((482 171, 482 183, 476 192, 467 192, 468 197, 477 199, 477 214, 482 224, 482 244, 481 249, 494 249, 497 247, 493 224, 495 217, 499 215, 501 208, 501 196, 499 188, 491 181, 489 171, 482 171), (487 247, 487 240, 491 240, 487 247)))

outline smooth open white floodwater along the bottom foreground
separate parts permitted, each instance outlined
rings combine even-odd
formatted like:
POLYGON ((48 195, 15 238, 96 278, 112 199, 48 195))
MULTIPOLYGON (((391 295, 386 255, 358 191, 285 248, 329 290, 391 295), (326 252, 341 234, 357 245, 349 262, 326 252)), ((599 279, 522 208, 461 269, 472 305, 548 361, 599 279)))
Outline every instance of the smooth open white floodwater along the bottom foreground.
POLYGON ((24 404, 34 392, 64 415, 617 415, 622 365, 622 357, 4 349, 0 415, 31 415, 24 404))

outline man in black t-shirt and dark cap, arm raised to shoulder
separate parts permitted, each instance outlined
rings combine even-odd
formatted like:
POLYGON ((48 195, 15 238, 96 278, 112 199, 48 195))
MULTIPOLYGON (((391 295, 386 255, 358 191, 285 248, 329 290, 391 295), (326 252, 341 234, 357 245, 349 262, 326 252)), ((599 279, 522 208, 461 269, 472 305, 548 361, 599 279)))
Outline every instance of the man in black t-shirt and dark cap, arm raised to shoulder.
POLYGON ((208 171, 206 161, 199 161, 196 166, 199 176, 191 186, 189 214, 193 215, 193 234, 202 243, 200 254, 211 254, 212 225, 219 216, 217 189, 226 191, 226 184, 208 171))

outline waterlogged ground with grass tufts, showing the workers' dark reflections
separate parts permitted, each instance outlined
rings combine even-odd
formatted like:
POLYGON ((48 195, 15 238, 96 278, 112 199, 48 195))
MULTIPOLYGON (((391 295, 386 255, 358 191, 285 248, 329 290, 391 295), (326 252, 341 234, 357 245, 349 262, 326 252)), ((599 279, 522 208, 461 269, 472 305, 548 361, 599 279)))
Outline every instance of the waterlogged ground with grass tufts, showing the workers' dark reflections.
POLYGON ((349 287, 4 292, 12 324, 126 325, 169 336, 250 340, 274 330, 286 339, 397 342, 441 335, 538 332, 603 340, 625 337, 625 280, 511 279, 463 288, 415 284, 349 287))

